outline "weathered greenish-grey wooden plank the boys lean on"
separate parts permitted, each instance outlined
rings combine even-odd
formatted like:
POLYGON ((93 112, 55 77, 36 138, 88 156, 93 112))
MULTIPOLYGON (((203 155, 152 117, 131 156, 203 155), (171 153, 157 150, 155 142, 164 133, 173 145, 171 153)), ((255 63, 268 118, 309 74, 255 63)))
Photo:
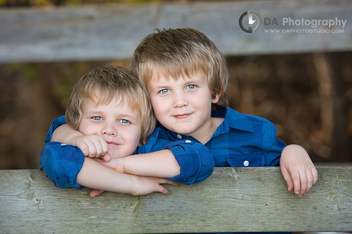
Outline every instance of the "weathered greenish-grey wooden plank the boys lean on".
POLYGON ((317 167, 308 195, 279 167, 215 168, 171 195, 58 189, 40 170, 0 171, 1 233, 181 233, 352 230, 352 167, 317 167))

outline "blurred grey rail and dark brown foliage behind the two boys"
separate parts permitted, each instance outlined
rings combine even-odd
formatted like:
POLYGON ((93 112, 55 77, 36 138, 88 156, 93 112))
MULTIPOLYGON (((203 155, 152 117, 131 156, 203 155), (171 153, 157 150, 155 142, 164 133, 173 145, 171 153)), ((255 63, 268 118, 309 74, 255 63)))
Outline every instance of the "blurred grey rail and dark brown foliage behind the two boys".
POLYGON ((238 24, 248 10, 262 24, 284 14, 351 19, 351 4, 281 2, 0 0, 0 169, 39 168, 71 86, 95 67, 128 67, 143 37, 176 27, 204 32, 226 55, 231 108, 269 119, 317 165, 351 164, 352 21, 335 34, 264 31, 276 25, 246 33, 238 24))

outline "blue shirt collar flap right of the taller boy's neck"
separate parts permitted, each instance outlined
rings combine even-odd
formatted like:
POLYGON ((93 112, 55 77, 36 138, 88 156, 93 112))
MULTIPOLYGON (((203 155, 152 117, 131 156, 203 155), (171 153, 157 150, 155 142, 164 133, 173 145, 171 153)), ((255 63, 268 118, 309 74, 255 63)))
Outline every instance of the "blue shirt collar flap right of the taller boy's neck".
POLYGON ((221 133, 227 132, 230 127, 242 131, 254 132, 253 126, 248 118, 244 114, 238 113, 230 107, 223 107, 219 110, 213 111, 212 117, 224 118, 224 121, 219 126, 221 133))

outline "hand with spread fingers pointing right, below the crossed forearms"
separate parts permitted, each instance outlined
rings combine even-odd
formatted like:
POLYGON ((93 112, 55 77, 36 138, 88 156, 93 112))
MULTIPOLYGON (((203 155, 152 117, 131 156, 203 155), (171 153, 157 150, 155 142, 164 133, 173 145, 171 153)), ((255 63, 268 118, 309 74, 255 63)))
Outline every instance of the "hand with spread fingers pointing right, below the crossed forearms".
POLYGON ((133 196, 145 195, 153 192, 169 195, 171 192, 160 184, 171 184, 173 186, 178 186, 178 182, 166 180, 159 177, 136 176, 136 179, 136 189, 131 193, 133 196))

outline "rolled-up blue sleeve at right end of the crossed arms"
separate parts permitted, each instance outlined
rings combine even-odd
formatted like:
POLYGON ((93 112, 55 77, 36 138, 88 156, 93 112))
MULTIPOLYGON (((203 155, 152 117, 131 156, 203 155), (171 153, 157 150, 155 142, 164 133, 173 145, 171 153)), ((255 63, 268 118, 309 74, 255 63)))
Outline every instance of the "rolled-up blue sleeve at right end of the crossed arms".
POLYGON ((183 184, 200 183, 214 170, 214 158, 205 145, 189 140, 172 142, 165 146, 174 154, 180 165, 180 175, 167 178, 183 184))

